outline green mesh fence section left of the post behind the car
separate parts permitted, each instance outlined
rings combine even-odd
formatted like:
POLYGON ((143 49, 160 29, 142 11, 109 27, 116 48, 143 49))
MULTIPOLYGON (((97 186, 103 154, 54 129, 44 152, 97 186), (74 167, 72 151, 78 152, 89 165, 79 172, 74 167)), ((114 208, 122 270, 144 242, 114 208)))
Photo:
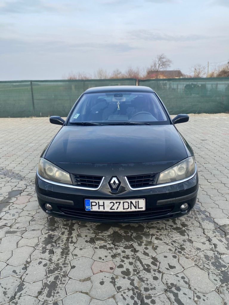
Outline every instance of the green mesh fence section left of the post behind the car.
POLYGON ((66 117, 88 88, 136 85, 136 79, 0 81, 0 117, 66 117))

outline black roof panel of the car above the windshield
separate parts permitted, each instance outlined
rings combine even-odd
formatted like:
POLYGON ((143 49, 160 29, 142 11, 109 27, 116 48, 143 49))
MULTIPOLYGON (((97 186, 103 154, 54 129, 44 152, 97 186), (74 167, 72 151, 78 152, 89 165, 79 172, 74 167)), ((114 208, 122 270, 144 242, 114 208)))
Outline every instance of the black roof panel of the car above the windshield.
POLYGON ((104 86, 104 87, 89 88, 84 93, 116 92, 116 91, 154 92, 153 89, 145 86, 104 86))

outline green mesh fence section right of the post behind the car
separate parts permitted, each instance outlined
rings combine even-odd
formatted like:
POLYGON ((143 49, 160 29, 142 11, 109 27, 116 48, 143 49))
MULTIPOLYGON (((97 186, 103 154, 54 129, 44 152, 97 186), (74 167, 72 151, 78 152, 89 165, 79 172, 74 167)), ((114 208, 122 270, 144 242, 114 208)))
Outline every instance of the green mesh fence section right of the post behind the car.
POLYGON ((139 86, 155 90, 169 114, 229 111, 229 77, 149 79, 139 86))

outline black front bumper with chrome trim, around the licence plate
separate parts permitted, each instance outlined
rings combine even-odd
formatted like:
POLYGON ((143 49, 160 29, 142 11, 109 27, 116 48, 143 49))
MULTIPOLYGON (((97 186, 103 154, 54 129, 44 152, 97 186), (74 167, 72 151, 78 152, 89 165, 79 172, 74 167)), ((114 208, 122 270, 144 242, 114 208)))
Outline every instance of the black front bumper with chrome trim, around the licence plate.
MULTIPOLYGON (((77 219, 82 221, 131 223, 156 221, 183 216, 191 211, 197 199, 198 173, 191 179, 157 188, 132 190, 121 181, 120 192, 113 194, 104 178, 99 190, 76 189, 35 178, 38 203, 47 214, 54 217, 77 219), (125 186, 123 186, 125 185, 125 186), (136 212, 96 212, 85 211, 85 199, 146 199, 146 210, 136 212), (45 203, 52 205, 52 211, 46 211, 45 203), (180 206, 188 203, 189 209, 180 211, 180 206)), ((122 179, 120 179, 122 180, 122 179)))

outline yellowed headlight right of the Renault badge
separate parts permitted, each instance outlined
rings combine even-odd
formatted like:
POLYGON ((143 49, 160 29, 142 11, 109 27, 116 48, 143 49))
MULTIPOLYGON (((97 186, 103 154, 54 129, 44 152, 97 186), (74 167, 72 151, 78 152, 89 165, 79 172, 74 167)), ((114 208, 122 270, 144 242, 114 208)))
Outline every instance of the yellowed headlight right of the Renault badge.
POLYGON ((188 157, 161 172, 158 184, 181 180, 191 176, 195 171, 194 157, 188 157))

